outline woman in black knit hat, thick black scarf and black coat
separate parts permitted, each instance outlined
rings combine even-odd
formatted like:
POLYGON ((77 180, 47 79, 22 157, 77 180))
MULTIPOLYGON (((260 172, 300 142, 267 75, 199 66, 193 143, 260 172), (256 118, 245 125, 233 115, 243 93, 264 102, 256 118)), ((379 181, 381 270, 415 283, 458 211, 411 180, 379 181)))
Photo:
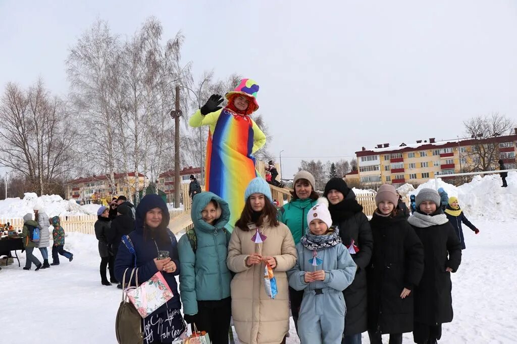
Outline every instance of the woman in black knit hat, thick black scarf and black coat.
POLYGON ((372 230, 354 191, 342 178, 330 179, 323 195, 330 203, 332 224, 338 227, 341 242, 357 265, 354 282, 343 291, 346 302, 343 344, 360 344, 361 333, 367 331, 368 323, 366 268, 372 257, 372 230))

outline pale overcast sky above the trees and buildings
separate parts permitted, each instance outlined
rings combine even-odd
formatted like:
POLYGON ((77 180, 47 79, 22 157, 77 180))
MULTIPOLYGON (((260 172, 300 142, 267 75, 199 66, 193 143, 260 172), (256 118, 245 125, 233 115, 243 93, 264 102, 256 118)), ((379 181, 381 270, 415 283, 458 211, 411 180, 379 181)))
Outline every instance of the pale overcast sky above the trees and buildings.
POLYGON ((183 32, 195 76, 258 82, 284 177, 301 158, 455 138, 478 114, 517 119, 515 0, 0 0, 2 92, 41 76, 66 94, 64 61, 84 30, 100 18, 131 36, 151 15, 164 38, 183 32))

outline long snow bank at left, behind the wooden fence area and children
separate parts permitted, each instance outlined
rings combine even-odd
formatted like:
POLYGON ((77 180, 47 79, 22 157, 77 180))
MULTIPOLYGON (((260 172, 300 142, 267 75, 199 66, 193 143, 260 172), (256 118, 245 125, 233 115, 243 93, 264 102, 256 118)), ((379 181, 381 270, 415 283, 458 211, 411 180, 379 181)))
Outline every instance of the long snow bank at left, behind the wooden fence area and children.
POLYGON ((8 198, 0 201, 0 218, 22 218, 34 207, 40 206, 49 217, 63 215, 97 214, 98 204, 79 205, 73 200, 63 200, 59 195, 42 195, 26 192, 23 199, 8 198))

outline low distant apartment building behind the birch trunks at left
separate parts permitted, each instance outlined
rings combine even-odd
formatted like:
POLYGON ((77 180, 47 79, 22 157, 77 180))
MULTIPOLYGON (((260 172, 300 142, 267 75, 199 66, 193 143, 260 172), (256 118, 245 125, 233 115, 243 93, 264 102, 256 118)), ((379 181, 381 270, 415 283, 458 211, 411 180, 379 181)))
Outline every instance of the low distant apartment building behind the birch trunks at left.
POLYGON ((119 195, 129 196, 142 190, 145 184, 145 176, 142 173, 115 173, 116 193, 111 194, 111 183, 108 174, 81 177, 67 182, 66 198, 84 203, 96 202, 99 200, 110 201, 112 197, 119 195))

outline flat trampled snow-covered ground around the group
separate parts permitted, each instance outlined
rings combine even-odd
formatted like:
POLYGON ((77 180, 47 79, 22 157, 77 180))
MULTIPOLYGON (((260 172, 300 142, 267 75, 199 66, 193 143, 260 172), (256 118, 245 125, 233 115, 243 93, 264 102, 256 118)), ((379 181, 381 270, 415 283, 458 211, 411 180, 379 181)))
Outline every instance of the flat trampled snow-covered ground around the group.
MULTIPOLYGON (((515 343, 517 341, 517 227, 515 221, 470 219, 479 235, 465 231, 467 249, 460 269, 452 275, 454 320, 444 324, 443 343, 515 343)), ((0 305, 2 343, 116 343, 114 322, 121 292, 102 286, 97 240, 70 233, 65 249, 69 263, 40 271, 3 267, 0 305), (30 321, 28 319, 31 319, 30 321), (34 329, 25 331, 23 329, 34 329)), ((39 252, 35 252, 39 256, 39 252)), ((64 257, 62 257, 64 258, 64 257)), ((25 255, 20 262, 23 266, 25 255)), ((291 324, 288 343, 299 342, 291 324), (295 339, 296 338, 296 339, 295 339)), ((363 334, 363 343, 368 343, 363 334)), ((387 339, 386 339, 387 342, 387 339)), ((411 343, 410 334, 404 342, 411 343)))

